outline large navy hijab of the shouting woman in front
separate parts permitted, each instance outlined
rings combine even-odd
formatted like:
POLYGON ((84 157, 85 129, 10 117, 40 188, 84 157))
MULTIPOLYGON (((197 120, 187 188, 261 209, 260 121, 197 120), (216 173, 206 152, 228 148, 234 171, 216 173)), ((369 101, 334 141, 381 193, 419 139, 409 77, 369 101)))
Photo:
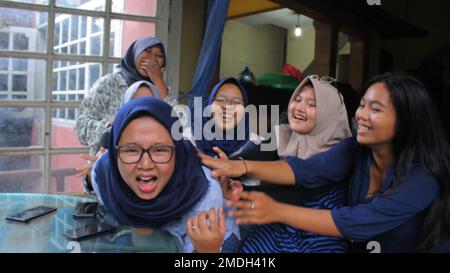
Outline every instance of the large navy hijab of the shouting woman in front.
POLYGON ((122 225, 160 227, 179 219, 204 196, 209 182, 201 168, 194 147, 184 140, 175 141, 175 169, 162 192, 152 200, 139 198, 125 183, 117 166, 117 151, 122 132, 134 119, 152 116, 170 132, 178 118, 171 116, 172 107, 153 97, 131 100, 120 108, 112 126, 107 154, 94 168, 101 199, 122 225))

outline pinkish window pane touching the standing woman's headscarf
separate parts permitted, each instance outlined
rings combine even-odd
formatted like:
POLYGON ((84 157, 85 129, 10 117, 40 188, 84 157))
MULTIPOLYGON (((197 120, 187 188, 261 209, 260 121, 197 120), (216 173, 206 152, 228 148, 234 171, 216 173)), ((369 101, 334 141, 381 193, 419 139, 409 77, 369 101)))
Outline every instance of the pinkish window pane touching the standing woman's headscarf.
POLYGON ((109 56, 122 57, 128 47, 143 36, 155 36, 155 24, 137 21, 111 20, 109 56), (135 30, 139 31, 135 31, 135 30), (121 36, 119 34, 122 34, 121 36))

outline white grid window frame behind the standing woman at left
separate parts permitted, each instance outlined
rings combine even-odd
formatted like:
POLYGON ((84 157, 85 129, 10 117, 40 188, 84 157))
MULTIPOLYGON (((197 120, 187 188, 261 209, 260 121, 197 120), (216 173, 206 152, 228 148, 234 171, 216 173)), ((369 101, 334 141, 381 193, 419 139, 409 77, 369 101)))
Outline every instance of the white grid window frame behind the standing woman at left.
MULTIPOLYGON (((111 20, 127 20, 127 21, 139 21, 139 22, 149 22, 155 24, 155 36, 161 39, 161 41, 167 46, 168 54, 171 52, 175 53, 174 55, 178 58, 171 59, 170 63, 173 67, 173 71, 167 69, 166 78, 167 83, 172 88, 176 88, 178 90, 178 64, 179 64, 179 44, 175 44, 173 47, 169 46, 170 41, 179 41, 181 32, 172 32, 170 34, 169 39, 169 23, 173 25, 169 20, 169 13, 172 10, 180 11, 182 7, 181 0, 158 0, 157 2, 157 11, 156 16, 140 16, 140 15, 128 15, 122 13, 113 13, 112 12, 112 0, 105 0, 105 9, 104 11, 92 11, 92 10, 82 10, 82 9, 72 9, 65 7, 56 7, 56 0, 49 0, 48 5, 42 4, 33 4, 33 3, 22 3, 22 2, 11 2, 11 1, 1 1, 0 8, 13 8, 13 9, 21 9, 21 10, 29 10, 29 11, 37 11, 37 12, 47 12, 47 44, 45 52, 29 52, 29 51, 18 51, 18 50, 8 50, 1 51, 2 58, 21 58, 21 59, 32 59, 32 60, 41 60, 45 61, 46 64, 46 80, 45 80, 45 96, 44 100, 0 100, 0 108, 7 107, 23 107, 23 108, 41 108, 44 109, 45 113, 45 128, 44 128, 44 146, 43 147, 1 147, 0 148, 0 156, 18 156, 18 155, 39 155, 43 156, 43 188, 41 192, 50 193, 51 192, 51 157, 53 155, 59 154, 79 154, 79 153, 87 153, 89 151, 88 147, 82 148, 56 148, 51 147, 52 143, 52 135, 51 135, 51 126, 52 119, 53 123, 61 124, 61 119, 52 117, 52 110, 58 110, 61 108, 75 108, 77 109, 81 102, 80 101, 53 101, 53 62, 54 61, 68 61, 68 62, 80 62, 80 63, 99 63, 100 64, 100 76, 103 76, 108 73, 108 66, 110 64, 118 63, 120 58, 110 57, 109 56, 109 41, 110 41, 110 22, 111 20), (91 56, 91 55, 66 55, 59 54, 54 52, 54 27, 55 27, 55 15, 56 14, 69 14, 69 15, 77 15, 77 16, 89 16, 89 17, 99 17, 103 19, 103 41, 102 41, 102 54, 99 56, 91 56), (178 50, 178 52, 176 51, 178 50), (54 53, 53 53, 54 52, 54 53), (167 77, 167 75, 171 75, 167 77)), ((180 12, 177 12, 180 14, 180 12)), ((81 17, 79 17, 81 18, 81 17)), ((79 22, 79 37, 81 34, 80 24, 79 22)), ((181 18, 177 18, 175 22, 181 24, 181 18)), ((69 20, 69 25, 72 23, 72 20, 69 20)), ((88 22, 87 22, 88 23, 88 22)), ((62 28, 62 24, 60 26, 62 28)), ((37 26, 37 29, 39 26, 37 26)), ((71 42, 70 34, 68 33, 68 43, 71 42)), ((77 40, 80 40, 80 38, 77 40)), ((86 34, 87 37, 87 34, 86 34)), ((86 39, 86 37, 84 37, 86 39)), ((62 37, 58 37, 58 39, 62 37)), ((10 34, 10 42, 13 42, 10 34)), ((30 42, 31 43, 31 42, 30 42)), ((88 45, 86 44, 86 53, 88 52, 88 45)), ((79 52, 79 51, 78 51, 79 52)), ((12 64, 11 64, 12 65, 12 64)), ((11 68, 10 68, 11 69, 11 68)), ((77 83, 78 86, 78 69, 77 68, 77 83)), ((87 68, 88 69, 88 68, 87 68)), ((61 70, 65 71, 65 70, 61 70)), ((85 75, 87 71, 85 70, 85 75)), ((8 74, 9 75, 9 74, 8 74)), ((9 77, 9 76, 8 76, 9 77)), ((85 84, 88 85, 87 78, 85 78, 85 84)), ((33 90, 29 90, 29 92, 33 92, 33 90)), ((177 94, 178 92, 174 92, 177 94)), ((74 124, 74 123, 73 123, 74 124)), ((78 167, 78 166, 73 166, 78 167)), ((81 180, 81 178, 80 178, 81 180)))

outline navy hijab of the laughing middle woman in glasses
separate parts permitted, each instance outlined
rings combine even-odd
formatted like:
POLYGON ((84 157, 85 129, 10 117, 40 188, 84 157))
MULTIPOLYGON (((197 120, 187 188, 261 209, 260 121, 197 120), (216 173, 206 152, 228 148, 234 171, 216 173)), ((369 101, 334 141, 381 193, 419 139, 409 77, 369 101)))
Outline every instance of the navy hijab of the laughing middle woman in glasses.
MULTIPOLYGON (((222 87, 222 85, 224 85, 226 83, 234 84, 234 85, 236 85, 239 88, 239 90, 242 93, 242 97, 244 99, 244 107, 246 107, 248 105, 247 91, 245 90, 245 88, 240 84, 240 82, 236 78, 225 78, 225 79, 222 79, 220 82, 218 82, 214 86, 214 89, 212 90, 211 94, 208 97, 208 104, 207 104, 207 106, 210 106, 214 102, 214 98, 216 97, 217 92, 222 87)), ((202 128, 204 128, 205 124, 211 119, 212 119, 212 117, 210 117, 210 118, 204 117, 202 119, 202 128)), ((242 119, 242 121, 244 121, 244 120, 245 120, 245 127, 244 127, 245 138, 243 140, 238 140, 238 138, 237 138, 237 136, 238 136, 237 127, 238 126, 236 126, 234 128, 234 140, 226 140, 225 137, 224 137, 223 140, 216 140, 216 139, 206 140, 206 139, 204 139, 204 137, 202 137, 202 139, 195 141, 195 143, 197 145, 197 148, 199 148, 202 152, 204 152, 204 153, 206 153, 207 155, 210 155, 210 156, 216 156, 217 155, 216 152, 213 151, 213 147, 219 147, 228 156, 230 154, 236 152, 241 147, 243 147, 245 144, 250 142, 250 125, 249 125, 249 120, 250 119, 248 117, 248 113, 245 113, 244 118, 242 119)), ((215 130, 215 125, 212 127, 212 131, 213 132, 214 132, 214 130, 215 130)))

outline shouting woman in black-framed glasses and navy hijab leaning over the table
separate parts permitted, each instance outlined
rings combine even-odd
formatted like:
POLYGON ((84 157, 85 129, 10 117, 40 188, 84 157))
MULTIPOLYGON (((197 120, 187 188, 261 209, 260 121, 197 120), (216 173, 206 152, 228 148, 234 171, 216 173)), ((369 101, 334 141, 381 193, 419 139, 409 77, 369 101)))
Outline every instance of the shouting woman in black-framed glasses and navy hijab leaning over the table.
POLYGON ((93 187, 119 224, 144 233, 166 230, 185 252, 216 250, 231 234, 225 229, 222 192, 192 144, 172 138, 178 118, 171 113, 172 107, 152 97, 125 104, 114 120, 108 151, 94 165, 93 187), (205 231, 203 225, 191 224, 190 229, 204 234, 192 242, 186 222, 202 212, 209 225, 205 231))

